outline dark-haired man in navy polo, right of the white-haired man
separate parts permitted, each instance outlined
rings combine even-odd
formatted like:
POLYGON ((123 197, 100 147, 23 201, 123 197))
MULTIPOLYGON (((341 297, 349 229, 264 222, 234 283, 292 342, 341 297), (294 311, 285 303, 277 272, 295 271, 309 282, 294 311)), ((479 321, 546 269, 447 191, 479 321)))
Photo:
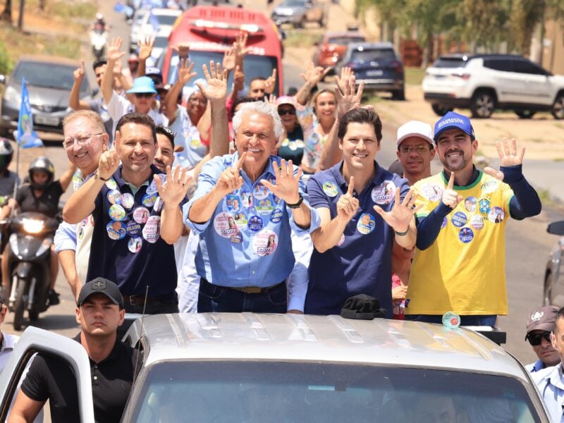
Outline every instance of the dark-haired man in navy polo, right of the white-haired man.
POLYGON ((309 178, 309 201, 321 226, 312 233, 306 314, 338 314, 347 298, 367 294, 392 316, 393 240, 415 246, 416 196, 407 180, 376 163, 381 131, 374 111, 348 111, 338 125, 343 160, 309 178))

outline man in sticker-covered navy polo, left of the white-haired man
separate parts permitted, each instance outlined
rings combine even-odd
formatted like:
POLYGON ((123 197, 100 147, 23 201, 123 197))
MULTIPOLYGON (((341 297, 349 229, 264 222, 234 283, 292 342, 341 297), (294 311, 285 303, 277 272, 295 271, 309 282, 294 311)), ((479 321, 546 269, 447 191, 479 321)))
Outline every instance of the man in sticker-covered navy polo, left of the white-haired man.
POLYGON ((173 243, 183 230, 180 204, 188 185, 185 169, 165 176, 152 166, 157 135, 152 118, 127 114, 117 125, 115 149, 68 200, 63 218, 77 223, 92 213, 94 232, 87 278, 116 281, 125 311, 178 312, 173 243), (121 165, 120 165, 121 161, 121 165))

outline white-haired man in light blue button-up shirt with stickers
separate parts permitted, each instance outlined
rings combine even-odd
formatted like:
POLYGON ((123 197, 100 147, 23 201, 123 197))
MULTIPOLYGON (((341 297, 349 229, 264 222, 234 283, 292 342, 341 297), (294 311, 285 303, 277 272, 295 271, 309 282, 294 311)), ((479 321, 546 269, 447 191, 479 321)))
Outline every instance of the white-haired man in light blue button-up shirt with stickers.
POLYGON ((286 312, 286 278, 294 266, 290 232, 314 231, 301 171, 272 156, 283 134, 264 102, 233 118, 237 152, 202 167, 185 223, 200 235, 198 312, 286 312))

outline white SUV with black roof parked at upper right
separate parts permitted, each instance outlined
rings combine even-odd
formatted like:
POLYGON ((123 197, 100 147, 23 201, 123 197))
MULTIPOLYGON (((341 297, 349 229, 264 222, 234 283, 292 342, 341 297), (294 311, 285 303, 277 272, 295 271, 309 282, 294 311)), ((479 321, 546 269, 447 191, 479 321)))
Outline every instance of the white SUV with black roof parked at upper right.
POLYGON ((427 68, 422 85, 439 116, 460 107, 469 108, 474 118, 489 118, 494 109, 513 110, 520 118, 537 111, 564 118, 564 76, 552 75, 521 56, 441 56, 427 68))

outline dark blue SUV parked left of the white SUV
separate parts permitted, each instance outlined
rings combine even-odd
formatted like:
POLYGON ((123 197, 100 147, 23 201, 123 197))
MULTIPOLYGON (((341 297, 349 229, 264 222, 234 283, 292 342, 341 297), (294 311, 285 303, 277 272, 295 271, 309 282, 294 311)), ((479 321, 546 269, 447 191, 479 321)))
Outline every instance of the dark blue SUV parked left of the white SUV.
POLYGON ((405 100, 403 64, 390 42, 349 44, 335 66, 337 75, 343 66, 353 69, 357 85, 364 82, 364 92, 389 91, 393 99, 405 100))

